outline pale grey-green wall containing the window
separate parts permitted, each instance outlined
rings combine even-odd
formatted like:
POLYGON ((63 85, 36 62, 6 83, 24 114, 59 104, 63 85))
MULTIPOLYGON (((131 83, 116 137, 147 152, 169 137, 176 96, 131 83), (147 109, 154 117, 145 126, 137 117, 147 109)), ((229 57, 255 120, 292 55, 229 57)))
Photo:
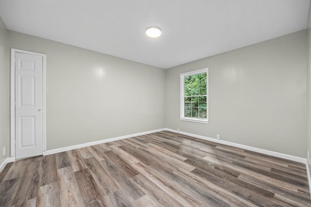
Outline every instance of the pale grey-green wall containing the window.
MULTIPOLYGON (((207 46, 208 47, 208 46, 207 46)), ((166 71, 166 127, 306 158, 307 31, 166 71), (179 120, 179 74, 209 68, 209 124, 179 120)))

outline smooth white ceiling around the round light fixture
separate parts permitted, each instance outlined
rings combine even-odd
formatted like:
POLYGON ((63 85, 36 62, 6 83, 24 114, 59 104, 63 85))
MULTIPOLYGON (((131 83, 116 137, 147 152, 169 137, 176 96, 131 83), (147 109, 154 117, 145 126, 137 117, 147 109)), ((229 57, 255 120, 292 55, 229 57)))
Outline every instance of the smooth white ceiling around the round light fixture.
POLYGON ((171 68, 307 29, 310 0, 0 0, 9 30, 171 68), (149 26, 162 29, 157 39, 149 26))

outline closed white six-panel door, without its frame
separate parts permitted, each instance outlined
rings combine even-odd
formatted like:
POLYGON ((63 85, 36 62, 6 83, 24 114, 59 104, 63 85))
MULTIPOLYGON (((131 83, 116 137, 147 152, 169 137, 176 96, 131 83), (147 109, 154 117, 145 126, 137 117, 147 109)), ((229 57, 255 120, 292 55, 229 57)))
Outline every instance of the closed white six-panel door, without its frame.
POLYGON ((15 52, 16 159, 43 154, 43 57, 15 52))

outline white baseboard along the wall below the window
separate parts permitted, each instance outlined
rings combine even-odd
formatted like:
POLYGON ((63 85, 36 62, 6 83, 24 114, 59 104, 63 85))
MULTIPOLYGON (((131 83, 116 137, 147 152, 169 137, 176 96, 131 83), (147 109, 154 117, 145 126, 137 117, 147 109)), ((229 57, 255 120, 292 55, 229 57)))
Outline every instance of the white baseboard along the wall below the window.
MULTIPOLYGON (((166 128, 165 130, 178 133, 177 130, 170 129, 170 128, 166 128)), ((293 161, 296 161, 296 162, 306 163, 306 159, 305 158, 300 158, 300 157, 296 157, 296 156, 293 156, 293 155, 287 155, 287 154, 283 154, 283 153, 279 153, 279 152, 274 152, 274 151, 270 151, 270 150, 266 150, 266 149, 260 149, 260 148, 256 148, 256 147, 252 147, 252 146, 243 145, 243 144, 231 143, 231 142, 223 141, 223 140, 217 140, 217 139, 214 139, 214 138, 205 137, 205 136, 201 136, 201 135, 197 135, 197 134, 191 134, 191 133, 183 132, 183 131, 179 131, 179 134, 184 134, 184 135, 187 135, 187 136, 199 138, 199 139, 202 139, 202 140, 207 140, 207 141, 214 142, 214 143, 221 143, 221 144, 226 144, 226 145, 230 145, 230 146, 235 146, 235 147, 239 147, 239 148, 242 148, 242 149, 251 150, 251 151, 254 151, 254 152, 259 152, 259 153, 262 153, 262 154, 275 156, 275 157, 278 157, 278 158, 289 159, 289 160, 293 160, 293 161)))

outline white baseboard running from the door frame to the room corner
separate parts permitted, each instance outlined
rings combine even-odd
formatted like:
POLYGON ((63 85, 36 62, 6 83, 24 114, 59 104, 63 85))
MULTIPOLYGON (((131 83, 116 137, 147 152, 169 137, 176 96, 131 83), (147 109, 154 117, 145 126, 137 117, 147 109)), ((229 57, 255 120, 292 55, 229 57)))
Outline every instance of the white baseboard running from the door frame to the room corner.
POLYGON ((114 138, 90 142, 90 143, 83 143, 83 144, 77 144, 77 145, 62 147, 62 148, 58 148, 58 149, 47 150, 47 151, 43 152, 43 155, 51 155, 51 154, 55 154, 55 153, 59 153, 59 152, 65 152, 65 151, 72 150, 72 149, 78 149, 81 147, 92 146, 92 145, 101 144, 101 143, 113 142, 113 141, 117 141, 117 140, 141 136, 141 135, 155 133, 155 132, 164 131, 164 130, 166 130, 166 129, 165 128, 155 129, 155 130, 140 132, 140 133, 136 133, 136 134, 124 135, 121 137, 114 137, 114 138))

